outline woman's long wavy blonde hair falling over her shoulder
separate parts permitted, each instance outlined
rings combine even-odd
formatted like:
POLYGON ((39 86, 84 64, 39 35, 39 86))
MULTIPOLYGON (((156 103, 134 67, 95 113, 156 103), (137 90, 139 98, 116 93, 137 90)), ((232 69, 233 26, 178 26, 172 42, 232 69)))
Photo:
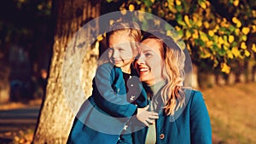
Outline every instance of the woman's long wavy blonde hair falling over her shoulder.
POLYGON ((160 53, 163 60, 165 60, 162 75, 167 83, 161 89, 160 94, 165 104, 166 115, 174 115, 174 112, 183 107, 185 103, 185 95, 182 89, 185 55, 171 37, 159 33, 148 34, 148 36, 143 37, 143 39, 148 38, 154 38, 161 43, 160 53))

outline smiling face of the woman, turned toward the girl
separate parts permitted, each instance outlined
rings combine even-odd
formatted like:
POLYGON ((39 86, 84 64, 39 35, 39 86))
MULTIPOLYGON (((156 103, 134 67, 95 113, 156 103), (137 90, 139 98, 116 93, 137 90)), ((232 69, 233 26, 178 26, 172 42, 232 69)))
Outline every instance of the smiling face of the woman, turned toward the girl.
POLYGON ((162 72, 165 60, 160 53, 161 43, 154 38, 148 38, 143 40, 140 49, 141 53, 135 66, 140 74, 141 81, 152 85, 164 80, 162 72))

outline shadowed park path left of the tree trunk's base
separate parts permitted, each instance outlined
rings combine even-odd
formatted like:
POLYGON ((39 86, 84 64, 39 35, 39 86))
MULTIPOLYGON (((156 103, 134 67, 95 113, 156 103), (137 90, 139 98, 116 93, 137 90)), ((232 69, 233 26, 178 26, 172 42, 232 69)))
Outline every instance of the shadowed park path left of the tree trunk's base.
POLYGON ((27 105, 0 110, 0 144, 9 144, 15 137, 19 139, 27 133, 32 135, 37 124, 39 108, 40 106, 27 105))

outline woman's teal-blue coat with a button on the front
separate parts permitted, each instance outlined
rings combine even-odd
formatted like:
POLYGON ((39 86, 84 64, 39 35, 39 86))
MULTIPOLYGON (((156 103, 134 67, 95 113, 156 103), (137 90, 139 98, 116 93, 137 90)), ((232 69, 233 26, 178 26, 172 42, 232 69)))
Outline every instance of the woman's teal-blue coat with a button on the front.
MULTIPOLYGON (((185 94, 187 105, 179 109, 174 116, 166 116, 161 110, 159 119, 155 123, 157 144, 212 143, 210 118, 201 92, 187 89, 185 94)), ((136 126, 139 127, 138 125, 133 127, 136 126)), ((131 135, 126 135, 125 140, 119 143, 144 144, 148 127, 137 130, 131 135)))

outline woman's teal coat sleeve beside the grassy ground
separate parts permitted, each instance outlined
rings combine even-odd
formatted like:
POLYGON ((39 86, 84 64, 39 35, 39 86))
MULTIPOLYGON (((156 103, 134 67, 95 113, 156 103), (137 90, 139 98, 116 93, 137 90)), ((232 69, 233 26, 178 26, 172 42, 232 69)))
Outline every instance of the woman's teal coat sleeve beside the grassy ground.
POLYGON ((190 134, 192 144, 212 144, 210 117, 199 91, 194 91, 190 106, 190 134))

